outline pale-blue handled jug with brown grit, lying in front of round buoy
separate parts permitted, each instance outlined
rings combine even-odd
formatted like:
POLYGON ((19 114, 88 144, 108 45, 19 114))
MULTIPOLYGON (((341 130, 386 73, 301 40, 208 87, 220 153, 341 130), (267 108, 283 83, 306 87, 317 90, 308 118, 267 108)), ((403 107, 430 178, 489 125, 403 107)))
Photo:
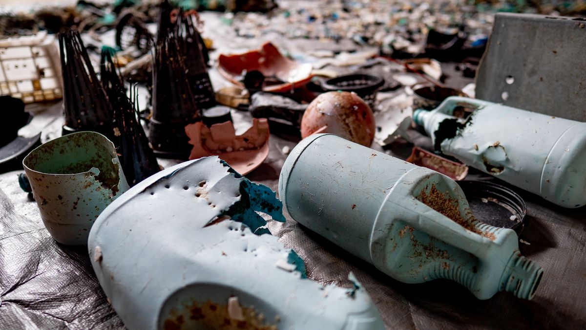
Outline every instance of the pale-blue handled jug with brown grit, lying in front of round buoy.
POLYGON ((531 299, 543 274, 515 231, 473 217, 454 180, 338 136, 291 151, 279 196, 295 221, 398 281, 447 278, 479 299, 531 299))

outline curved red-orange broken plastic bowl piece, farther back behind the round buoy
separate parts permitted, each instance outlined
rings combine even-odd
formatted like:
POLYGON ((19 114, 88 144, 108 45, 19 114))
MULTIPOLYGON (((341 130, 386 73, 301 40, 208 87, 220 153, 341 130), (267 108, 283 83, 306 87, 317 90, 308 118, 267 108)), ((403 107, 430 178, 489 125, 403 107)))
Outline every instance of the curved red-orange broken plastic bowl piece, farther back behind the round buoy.
POLYGON ((299 64, 281 55, 277 47, 270 42, 265 43, 260 49, 242 54, 221 54, 218 58, 220 74, 238 86, 243 86, 239 77, 253 70, 283 82, 264 86, 265 92, 288 92, 295 87, 304 86, 313 77, 311 69, 312 66, 309 63, 299 64))

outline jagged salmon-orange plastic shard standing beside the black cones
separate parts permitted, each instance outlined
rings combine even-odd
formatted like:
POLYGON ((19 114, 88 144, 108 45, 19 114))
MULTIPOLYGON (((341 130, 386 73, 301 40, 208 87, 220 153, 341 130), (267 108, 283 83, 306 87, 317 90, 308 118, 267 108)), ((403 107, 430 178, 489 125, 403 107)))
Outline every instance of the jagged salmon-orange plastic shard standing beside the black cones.
POLYGON ((189 159, 219 156, 234 170, 244 175, 256 169, 268 156, 268 121, 254 118, 253 126, 236 135, 231 122, 207 127, 202 122, 185 126, 189 144, 193 145, 189 159))

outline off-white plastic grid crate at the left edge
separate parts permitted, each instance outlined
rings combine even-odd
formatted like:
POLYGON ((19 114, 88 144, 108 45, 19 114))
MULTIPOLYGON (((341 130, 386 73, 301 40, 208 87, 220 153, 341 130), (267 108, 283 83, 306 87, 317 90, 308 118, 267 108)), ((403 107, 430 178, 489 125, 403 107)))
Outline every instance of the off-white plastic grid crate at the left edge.
POLYGON ((54 35, 42 31, 0 40, 0 95, 18 97, 25 103, 63 96, 54 35))

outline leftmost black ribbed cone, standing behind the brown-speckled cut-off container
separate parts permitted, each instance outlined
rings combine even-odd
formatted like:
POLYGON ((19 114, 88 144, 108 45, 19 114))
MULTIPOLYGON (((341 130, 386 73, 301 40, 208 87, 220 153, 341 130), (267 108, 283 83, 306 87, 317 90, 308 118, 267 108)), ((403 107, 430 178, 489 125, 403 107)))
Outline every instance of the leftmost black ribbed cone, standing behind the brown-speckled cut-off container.
POLYGON ((94 131, 113 139, 112 108, 79 32, 59 33, 63 75, 63 134, 94 131))

